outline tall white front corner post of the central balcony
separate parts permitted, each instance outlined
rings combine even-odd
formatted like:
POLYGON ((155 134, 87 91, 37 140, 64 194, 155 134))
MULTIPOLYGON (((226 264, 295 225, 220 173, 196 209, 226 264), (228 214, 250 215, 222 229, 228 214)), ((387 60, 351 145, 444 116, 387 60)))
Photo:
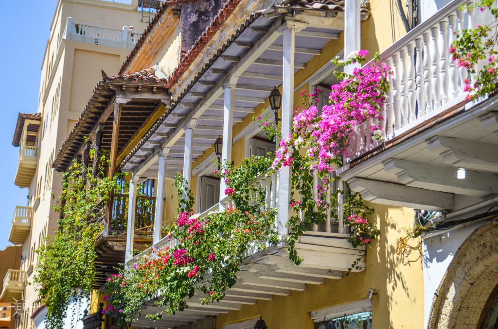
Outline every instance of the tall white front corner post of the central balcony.
MULTIPOLYGON (((294 111, 294 50, 295 31, 283 30, 283 83, 282 83, 282 138, 286 139, 292 130, 294 111)), ((287 235, 287 221, 290 216, 290 167, 282 167, 278 172, 278 233, 287 235)))

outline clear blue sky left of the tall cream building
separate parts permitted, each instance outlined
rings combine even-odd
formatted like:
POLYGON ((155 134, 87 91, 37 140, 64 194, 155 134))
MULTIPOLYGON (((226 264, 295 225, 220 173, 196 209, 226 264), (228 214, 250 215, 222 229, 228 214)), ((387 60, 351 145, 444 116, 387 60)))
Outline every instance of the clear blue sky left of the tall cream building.
POLYGON ((8 234, 14 208, 26 204, 27 188, 14 185, 19 148, 12 146, 18 112, 36 112, 40 67, 57 0, 6 1, 0 20, 1 119, 0 155, 3 184, 0 187, 0 249, 10 245, 8 234))

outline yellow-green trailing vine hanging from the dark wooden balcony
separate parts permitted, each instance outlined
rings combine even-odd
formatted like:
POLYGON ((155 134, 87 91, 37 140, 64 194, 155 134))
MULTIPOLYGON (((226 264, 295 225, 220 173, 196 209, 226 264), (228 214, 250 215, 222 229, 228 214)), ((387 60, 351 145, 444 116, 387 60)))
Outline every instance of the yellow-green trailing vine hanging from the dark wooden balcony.
MULTIPOLYGON (((90 158, 93 156, 92 150, 90 158)), ((100 171, 106 165, 103 157, 100 171)), ((95 244, 103 229, 97 218, 110 193, 118 188, 116 179, 95 178, 92 168, 76 161, 62 177, 62 195, 54 205, 61 214, 58 229, 38 248, 34 277, 40 300, 47 308, 46 326, 50 329, 62 329, 69 304, 90 295, 95 244)))

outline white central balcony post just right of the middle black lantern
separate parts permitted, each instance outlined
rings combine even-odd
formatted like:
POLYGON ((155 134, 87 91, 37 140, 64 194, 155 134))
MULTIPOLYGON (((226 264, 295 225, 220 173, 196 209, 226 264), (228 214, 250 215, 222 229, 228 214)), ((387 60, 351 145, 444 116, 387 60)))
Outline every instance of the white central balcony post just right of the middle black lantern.
MULTIPOLYGON (((235 84, 225 85, 224 90, 224 113, 223 113, 223 146, 221 154, 221 163, 232 161, 232 143, 233 143, 233 121, 234 121, 234 102, 235 102, 235 84)), ((225 189, 227 183, 220 181, 220 201, 225 198, 225 189)))

